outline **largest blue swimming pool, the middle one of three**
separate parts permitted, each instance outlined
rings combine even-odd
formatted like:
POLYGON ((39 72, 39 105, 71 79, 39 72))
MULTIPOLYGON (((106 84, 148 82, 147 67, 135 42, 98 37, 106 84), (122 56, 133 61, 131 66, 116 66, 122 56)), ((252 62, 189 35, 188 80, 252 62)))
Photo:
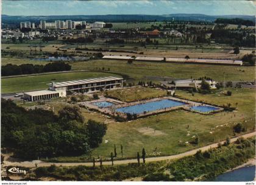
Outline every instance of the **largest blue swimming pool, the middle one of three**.
POLYGON ((180 106, 184 104, 186 103, 178 102, 175 100, 163 99, 155 102, 147 102, 147 103, 141 103, 138 105, 124 106, 121 108, 117 108, 116 111, 120 113, 141 114, 141 113, 144 113, 144 111, 148 112, 148 111, 161 110, 164 108, 180 106))

